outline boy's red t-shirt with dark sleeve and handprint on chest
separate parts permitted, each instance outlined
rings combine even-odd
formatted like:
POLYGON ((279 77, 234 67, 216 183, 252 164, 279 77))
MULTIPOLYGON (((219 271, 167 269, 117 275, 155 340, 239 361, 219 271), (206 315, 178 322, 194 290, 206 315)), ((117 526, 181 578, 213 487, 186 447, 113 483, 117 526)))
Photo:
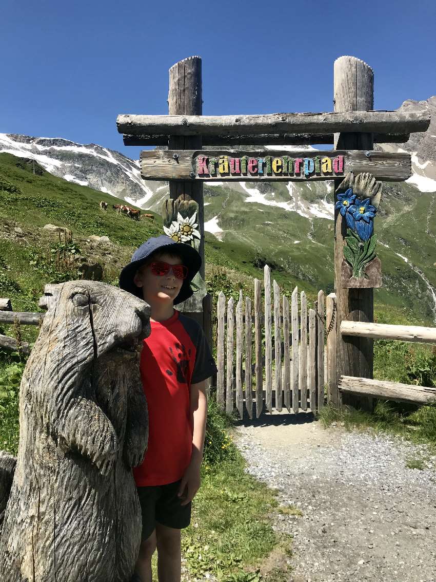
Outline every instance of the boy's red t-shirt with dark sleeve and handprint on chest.
POLYGON ((216 372, 198 323, 174 311, 152 321, 141 353, 141 378, 148 404, 149 436, 144 462, 133 474, 138 487, 178 481, 191 460, 190 386, 216 372))

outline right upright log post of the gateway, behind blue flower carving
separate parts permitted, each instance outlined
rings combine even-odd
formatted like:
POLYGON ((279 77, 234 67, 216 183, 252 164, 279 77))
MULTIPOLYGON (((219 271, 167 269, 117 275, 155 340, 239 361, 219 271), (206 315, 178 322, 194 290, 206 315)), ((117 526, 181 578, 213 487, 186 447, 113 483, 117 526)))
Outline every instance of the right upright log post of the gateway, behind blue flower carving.
MULTIPOLYGON (((374 108, 374 73, 369 65, 354 56, 341 56, 334 62, 334 111, 369 111, 374 108)), ((335 134, 335 148, 372 150, 372 133, 335 134)), ((340 180, 335 181, 335 189, 340 180)), ((344 256, 346 223, 335 211, 335 292, 337 296, 337 378, 341 375, 373 377, 373 340, 342 337, 341 321, 374 321, 373 289, 342 289, 341 265, 344 256)), ((372 408, 365 396, 341 398, 337 387, 334 400, 364 409, 372 408)))

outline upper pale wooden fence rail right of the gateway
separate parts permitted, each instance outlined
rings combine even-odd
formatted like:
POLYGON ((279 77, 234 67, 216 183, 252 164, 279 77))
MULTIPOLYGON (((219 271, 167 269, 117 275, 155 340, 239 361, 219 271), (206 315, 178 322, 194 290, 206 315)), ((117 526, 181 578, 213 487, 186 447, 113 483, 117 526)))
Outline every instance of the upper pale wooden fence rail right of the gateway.
POLYGON ((341 333, 342 335, 354 335, 363 338, 436 343, 436 328, 421 327, 419 325, 387 325, 373 324, 366 321, 341 321, 341 333))

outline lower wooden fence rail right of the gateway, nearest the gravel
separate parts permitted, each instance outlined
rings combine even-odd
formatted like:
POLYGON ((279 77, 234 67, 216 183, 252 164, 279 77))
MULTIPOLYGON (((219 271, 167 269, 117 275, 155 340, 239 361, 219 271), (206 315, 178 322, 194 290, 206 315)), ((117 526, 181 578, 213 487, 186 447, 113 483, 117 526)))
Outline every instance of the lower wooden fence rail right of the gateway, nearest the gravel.
POLYGON ((436 402, 436 388, 399 384, 399 382, 341 376, 338 380, 338 388, 341 392, 363 394, 373 398, 396 400, 397 402, 417 402, 419 404, 436 402))

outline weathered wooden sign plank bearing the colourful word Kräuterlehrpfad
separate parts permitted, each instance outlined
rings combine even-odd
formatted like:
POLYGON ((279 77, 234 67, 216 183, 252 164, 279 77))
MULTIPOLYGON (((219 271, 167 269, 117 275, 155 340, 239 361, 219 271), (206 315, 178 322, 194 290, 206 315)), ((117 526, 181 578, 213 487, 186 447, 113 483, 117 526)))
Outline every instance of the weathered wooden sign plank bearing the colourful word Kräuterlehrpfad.
POLYGON ((332 180, 335 178, 334 172, 326 174, 317 174, 315 172, 305 175, 303 171, 288 175, 266 173, 251 175, 246 169, 245 173, 232 174, 227 171, 226 174, 217 173, 217 175, 198 175, 196 173, 198 155, 208 156, 218 159, 220 156, 240 158, 244 155, 248 158, 282 158, 288 156, 292 159, 315 157, 344 156, 344 172, 339 176, 344 177, 346 172, 353 170, 355 174, 366 172, 373 174, 379 180, 388 180, 391 182, 402 182, 412 175, 412 162, 410 154, 400 152, 392 154, 383 151, 373 151, 372 148, 367 150, 370 157, 365 152, 358 150, 327 150, 327 151, 289 151, 285 150, 144 150, 141 151, 141 176, 144 180, 191 180, 196 182, 310 182, 314 180, 332 180), (174 158, 177 155, 177 158, 174 158))

